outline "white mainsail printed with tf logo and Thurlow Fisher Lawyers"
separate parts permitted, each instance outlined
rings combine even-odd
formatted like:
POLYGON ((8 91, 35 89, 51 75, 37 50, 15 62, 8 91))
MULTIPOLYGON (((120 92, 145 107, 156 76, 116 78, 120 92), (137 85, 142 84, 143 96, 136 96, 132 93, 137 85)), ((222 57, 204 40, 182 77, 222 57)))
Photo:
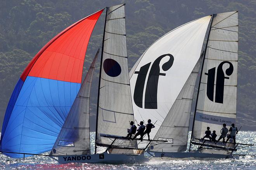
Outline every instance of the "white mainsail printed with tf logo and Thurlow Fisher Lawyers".
POLYGON ((238 60, 238 13, 215 14, 197 99, 192 131, 193 141, 202 138, 206 128, 220 136, 222 124, 236 119, 238 60))

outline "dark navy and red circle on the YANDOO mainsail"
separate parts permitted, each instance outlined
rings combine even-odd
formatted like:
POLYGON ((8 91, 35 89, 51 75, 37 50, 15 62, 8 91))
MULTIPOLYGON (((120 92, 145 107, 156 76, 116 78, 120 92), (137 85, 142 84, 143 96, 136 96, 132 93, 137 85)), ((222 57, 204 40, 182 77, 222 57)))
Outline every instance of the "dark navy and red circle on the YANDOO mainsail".
POLYGON ((111 58, 104 60, 103 69, 105 73, 111 77, 116 77, 121 74, 121 66, 116 60, 111 58))

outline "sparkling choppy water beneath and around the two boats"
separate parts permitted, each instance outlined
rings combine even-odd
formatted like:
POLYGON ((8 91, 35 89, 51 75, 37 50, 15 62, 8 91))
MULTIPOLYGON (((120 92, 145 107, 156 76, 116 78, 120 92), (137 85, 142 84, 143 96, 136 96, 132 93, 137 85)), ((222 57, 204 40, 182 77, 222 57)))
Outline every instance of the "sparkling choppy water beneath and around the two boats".
MULTIPOLYGON (((93 138, 95 133, 91 133, 91 148, 94 150, 93 138)), ((256 131, 241 131, 237 134, 237 142, 239 143, 256 143, 256 131)), ((175 158, 151 158, 149 162, 143 164, 123 164, 123 165, 108 165, 108 164, 90 164, 90 163, 69 163, 58 164, 57 161, 48 156, 32 156, 23 159, 9 158, 3 154, 0 155, 0 169, 54 169, 54 170, 126 170, 126 169, 255 169, 256 170, 256 146, 250 146, 238 150, 236 154, 245 154, 247 156, 240 156, 237 159, 175 159, 175 158)))

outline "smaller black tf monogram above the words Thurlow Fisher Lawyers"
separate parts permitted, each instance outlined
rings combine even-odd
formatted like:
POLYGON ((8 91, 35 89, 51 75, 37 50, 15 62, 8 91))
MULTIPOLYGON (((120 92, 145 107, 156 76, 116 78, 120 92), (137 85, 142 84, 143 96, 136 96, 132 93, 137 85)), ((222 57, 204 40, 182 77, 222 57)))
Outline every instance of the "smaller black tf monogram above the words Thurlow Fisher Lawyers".
MULTIPOLYGON (((229 79, 229 77, 225 77, 224 71, 222 68, 222 66, 225 63, 229 64, 229 67, 225 71, 226 75, 228 75, 228 76, 232 75, 233 70, 234 70, 232 63, 230 63, 229 61, 223 61, 218 66, 217 78, 216 78, 216 90, 215 90, 215 102, 216 103, 223 103, 224 81, 225 81, 225 79, 229 79)), ((208 99, 211 101, 213 101, 215 70, 216 70, 216 67, 209 69, 208 73, 204 73, 205 75, 208 75, 206 94, 207 94, 208 99)))

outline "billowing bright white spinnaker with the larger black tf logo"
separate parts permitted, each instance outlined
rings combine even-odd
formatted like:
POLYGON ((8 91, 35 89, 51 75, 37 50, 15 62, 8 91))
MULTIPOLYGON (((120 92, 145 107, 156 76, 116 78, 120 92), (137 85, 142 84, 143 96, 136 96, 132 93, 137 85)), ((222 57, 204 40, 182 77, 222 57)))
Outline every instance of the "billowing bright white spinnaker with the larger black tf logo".
POLYGON ((168 32, 131 69, 135 121, 151 119, 155 123, 150 138, 154 138, 196 65, 210 19, 206 16, 168 32))

